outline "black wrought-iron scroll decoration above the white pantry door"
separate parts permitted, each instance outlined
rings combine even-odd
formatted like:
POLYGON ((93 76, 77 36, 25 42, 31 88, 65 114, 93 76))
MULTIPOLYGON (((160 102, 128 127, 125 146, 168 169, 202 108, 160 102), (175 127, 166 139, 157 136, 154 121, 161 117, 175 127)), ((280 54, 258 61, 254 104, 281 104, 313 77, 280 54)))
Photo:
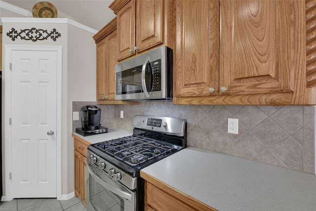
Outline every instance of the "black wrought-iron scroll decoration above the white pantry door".
POLYGON ((12 41, 15 41, 18 37, 21 38, 21 40, 31 40, 33 42, 35 41, 42 41, 47 40, 47 38, 51 38, 53 41, 56 41, 57 38, 61 37, 60 33, 56 31, 56 29, 53 29, 52 31, 47 32, 47 30, 43 29, 21 29, 21 32, 18 32, 14 28, 11 29, 10 32, 6 33, 6 36, 11 38, 12 41))

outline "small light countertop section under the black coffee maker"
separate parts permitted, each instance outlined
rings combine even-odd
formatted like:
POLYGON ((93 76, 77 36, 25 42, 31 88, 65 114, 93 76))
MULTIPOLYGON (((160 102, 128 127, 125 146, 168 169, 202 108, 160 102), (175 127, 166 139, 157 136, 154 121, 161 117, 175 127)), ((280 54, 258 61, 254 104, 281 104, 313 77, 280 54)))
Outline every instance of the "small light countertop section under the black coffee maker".
POLYGON ((108 128, 108 132, 96 134, 96 135, 88 135, 88 136, 82 136, 77 132, 74 132, 73 135, 78 136, 81 139, 84 139, 88 141, 91 144, 95 144, 102 141, 107 141, 111 139, 121 138, 125 136, 132 135, 133 133, 131 131, 118 129, 118 128, 108 128))

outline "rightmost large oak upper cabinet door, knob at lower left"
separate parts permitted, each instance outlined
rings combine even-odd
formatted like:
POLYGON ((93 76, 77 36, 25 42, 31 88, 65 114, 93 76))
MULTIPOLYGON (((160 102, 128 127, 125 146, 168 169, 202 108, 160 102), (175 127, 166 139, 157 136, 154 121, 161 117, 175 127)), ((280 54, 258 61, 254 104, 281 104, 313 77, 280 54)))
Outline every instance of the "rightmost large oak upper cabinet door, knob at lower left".
POLYGON ((283 0, 221 1, 220 94, 294 91, 291 5, 283 0))

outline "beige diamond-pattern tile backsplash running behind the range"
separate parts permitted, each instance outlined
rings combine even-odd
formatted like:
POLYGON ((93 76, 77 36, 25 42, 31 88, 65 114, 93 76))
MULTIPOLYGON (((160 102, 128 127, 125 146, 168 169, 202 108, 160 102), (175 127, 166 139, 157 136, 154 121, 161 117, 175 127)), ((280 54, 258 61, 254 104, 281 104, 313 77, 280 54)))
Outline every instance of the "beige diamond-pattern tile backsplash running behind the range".
MULTIPOLYGON (((73 111, 96 102, 73 102, 73 111)), ((196 146, 288 169, 315 173, 315 106, 213 106, 141 102, 97 105, 101 125, 132 131, 134 115, 187 119, 188 146, 196 146), (120 111, 124 118, 120 118, 120 111), (227 119, 238 119, 238 134, 227 119)), ((80 121, 73 122, 73 131, 80 121)))

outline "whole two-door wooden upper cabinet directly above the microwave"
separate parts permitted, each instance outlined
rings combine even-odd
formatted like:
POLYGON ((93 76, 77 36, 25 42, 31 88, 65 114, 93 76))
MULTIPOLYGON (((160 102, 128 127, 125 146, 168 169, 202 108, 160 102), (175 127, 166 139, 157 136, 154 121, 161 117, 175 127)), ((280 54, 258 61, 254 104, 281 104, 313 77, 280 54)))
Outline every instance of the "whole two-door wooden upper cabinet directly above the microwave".
POLYGON ((117 14, 118 60, 156 45, 173 49, 173 0, 115 0, 109 7, 117 14))

